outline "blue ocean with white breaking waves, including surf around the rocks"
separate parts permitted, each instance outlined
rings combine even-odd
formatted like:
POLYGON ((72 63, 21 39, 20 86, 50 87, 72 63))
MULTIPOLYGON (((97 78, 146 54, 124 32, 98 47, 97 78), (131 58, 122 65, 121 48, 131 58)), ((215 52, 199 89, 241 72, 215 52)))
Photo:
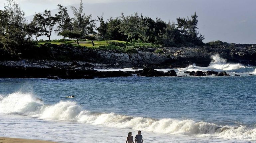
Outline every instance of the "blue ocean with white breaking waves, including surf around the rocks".
POLYGON ((212 59, 173 70, 231 76, 0 78, 0 136, 122 143, 141 130, 145 143, 256 142, 256 67, 212 59))

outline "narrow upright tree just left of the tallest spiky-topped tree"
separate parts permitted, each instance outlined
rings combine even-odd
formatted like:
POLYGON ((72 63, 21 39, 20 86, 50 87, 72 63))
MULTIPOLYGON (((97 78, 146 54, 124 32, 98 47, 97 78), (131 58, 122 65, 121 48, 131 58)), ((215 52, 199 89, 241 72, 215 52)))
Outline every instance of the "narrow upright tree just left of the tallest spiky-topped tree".
POLYGON ((62 6, 61 4, 58 4, 58 21, 57 21, 57 28, 54 30, 57 32, 57 35, 62 35, 64 37, 64 40, 66 40, 65 34, 62 34, 64 31, 71 31, 73 29, 71 19, 67 13, 67 8, 62 6))

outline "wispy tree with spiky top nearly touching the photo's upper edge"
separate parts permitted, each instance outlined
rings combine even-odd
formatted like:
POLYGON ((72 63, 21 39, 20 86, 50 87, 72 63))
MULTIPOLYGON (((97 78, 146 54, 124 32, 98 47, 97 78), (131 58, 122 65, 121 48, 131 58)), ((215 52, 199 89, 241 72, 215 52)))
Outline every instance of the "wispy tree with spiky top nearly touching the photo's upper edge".
MULTIPOLYGON (((96 27, 95 21, 91 18, 91 15, 85 15, 85 13, 83 13, 83 3, 82 0, 80 0, 80 6, 78 8, 78 10, 71 6, 71 9, 73 11, 74 14, 74 18, 72 18, 73 20, 73 33, 77 33, 78 35, 80 35, 80 39, 86 38, 89 35, 93 35, 96 34, 96 32, 94 31, 94 28, 96 27)), ((77 42, 77 44, 79 44, 77 42)))

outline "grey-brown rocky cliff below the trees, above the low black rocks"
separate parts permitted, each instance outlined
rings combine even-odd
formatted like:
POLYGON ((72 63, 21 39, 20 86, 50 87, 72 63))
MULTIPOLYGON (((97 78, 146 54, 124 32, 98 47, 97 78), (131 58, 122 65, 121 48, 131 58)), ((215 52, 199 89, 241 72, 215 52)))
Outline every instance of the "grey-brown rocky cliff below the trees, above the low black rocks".
POLYGON ((180 68, 195 63, 207 67, 211 56, 219 54, 230 63, 256 66, 256 45, 228 47, 172 47, 157 49, 138 48, 136 53, 121 53, 118 50, 90 49, 66 45, 47 44, 38 47, 27 59, 20 61, 2 61, 6 66, 62 67, 77 61, 89 68, 180 68))

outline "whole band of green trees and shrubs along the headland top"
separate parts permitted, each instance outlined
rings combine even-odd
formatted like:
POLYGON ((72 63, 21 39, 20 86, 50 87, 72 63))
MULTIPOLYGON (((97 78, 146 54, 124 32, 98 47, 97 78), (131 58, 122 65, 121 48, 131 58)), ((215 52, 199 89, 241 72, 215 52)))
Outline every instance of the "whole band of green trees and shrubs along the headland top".
POLYGON ((157 48, 204 44, 202 42, 204 36, 197 31, 196 13, 192 14, 191 18, 177 18, 177 24, 170 21, 166 23, 160 18, 154 20, 138 13, 128 16, 122 13, 120 17, 110 17, 106 21, 103 17, 94 20, 91 15, 83 13, 83 3, 80 0, 78 9, 71 6, 74 14, 72 18, 69 17, 67 8, 59 4, 57 5, 58 14, 52 15, 51 11, 45 10, 44 13, 35 14, 34 19, 27 23, 19 5, 13 0, 7 0, 7 2, 8 5, 0 10, 0 54, 2 55, 8 53, 19 57, 36 46, 33 37, 40 42, 38 37, 47 36, 51 42, 53 32, 63 36, 62 41, 72 39, 79 44, 79 41, 86 39, 90 40, 93 46, 94 40, 127 41, 125 45, 112 43, 108 47, 118 46, 133 52, 135 52, 134 48, 140 46, 157 48), (98 27, 96 27, 96 21, 99 22, 98 27))

